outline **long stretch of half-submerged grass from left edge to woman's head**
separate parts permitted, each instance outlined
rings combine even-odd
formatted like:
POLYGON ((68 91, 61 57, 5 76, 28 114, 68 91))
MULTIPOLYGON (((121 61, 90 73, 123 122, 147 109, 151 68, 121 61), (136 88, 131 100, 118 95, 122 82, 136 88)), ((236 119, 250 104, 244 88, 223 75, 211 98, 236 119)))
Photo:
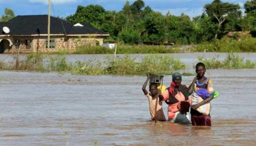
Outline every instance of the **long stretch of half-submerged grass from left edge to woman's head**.
POLYGON ((63 55, 46 58, 41 53, 32 53, 28 54, 24 59, 17 59, 14 56, 14 61, 0 61, 0 69, 71 72, 72 74, 81 75, 135 75, 146 74, 146 72, 171 74, 175 70, 186 69, 186 65, 179 58, 157 54, 147 55, 140 62, 136 62, 136 58, 125 55, 125 57, 117 58, 108 57, 106 61, 89 59, 86 62, 76 61, 75 63, 68 64, 63 55))

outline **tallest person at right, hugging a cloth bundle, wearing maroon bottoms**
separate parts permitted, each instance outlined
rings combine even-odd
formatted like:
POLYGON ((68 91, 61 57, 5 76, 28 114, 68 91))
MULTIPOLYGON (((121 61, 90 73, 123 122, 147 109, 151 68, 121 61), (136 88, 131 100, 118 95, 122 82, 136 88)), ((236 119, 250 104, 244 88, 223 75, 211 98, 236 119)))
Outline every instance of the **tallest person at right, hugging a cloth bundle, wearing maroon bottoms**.
POLYGON ((210 78, 204 76, 205 65, 202 62, 196 64, 197 76, 189 86, 191 97, 191 122, 193 126, 211 126, 210 101, 218 97, 218 91, 214 91, 210 78))

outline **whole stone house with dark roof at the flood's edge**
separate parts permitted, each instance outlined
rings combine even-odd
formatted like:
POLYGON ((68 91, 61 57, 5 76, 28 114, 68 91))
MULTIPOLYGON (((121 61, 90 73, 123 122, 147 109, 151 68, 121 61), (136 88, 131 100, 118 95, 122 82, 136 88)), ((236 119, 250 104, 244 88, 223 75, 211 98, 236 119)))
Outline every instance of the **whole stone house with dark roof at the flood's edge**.
POLYGON ((8 22, 0 22, 0 53, 19 49, 22 53, 75 51, 79 45, 102 45, 109 36, 88 23, 69 23, 50 17, 50 47, 48 47, 48 15, 16 16, 8 22))

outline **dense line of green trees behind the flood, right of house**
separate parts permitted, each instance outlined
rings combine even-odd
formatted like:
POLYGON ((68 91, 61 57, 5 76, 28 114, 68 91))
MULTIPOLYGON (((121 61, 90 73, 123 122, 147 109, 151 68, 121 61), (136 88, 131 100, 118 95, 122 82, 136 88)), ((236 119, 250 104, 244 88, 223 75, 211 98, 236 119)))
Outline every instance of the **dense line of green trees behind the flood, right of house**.
POLYGON ((176 44, 198 44, 221 39, 230 31, 249 31, 256 35, 256 0, 246 1, 245 14, 238 4, 214 0, 204 5, 200 16, 163 15, 145 6, 143 0, 130 4, 126 1, 122 10, 106 11, 100 5, 78 5, 74 15, 66 19, 72 23, 90 23, 108 32, 109 40, 124 43, 133 41, 173 42, 176 44))

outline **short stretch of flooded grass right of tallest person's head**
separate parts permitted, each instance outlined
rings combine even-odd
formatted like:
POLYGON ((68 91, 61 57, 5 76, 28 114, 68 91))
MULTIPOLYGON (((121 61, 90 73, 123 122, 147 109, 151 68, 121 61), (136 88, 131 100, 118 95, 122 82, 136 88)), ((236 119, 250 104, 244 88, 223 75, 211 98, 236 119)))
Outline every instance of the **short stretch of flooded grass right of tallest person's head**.
POLYGON ((198 58, 199 62, 203 62, 207 69, 244 69, 244 68, 255 68, 256 63, 247 59, 234 55, 233 53, 228 53, 224 61, 219 61, 215 57, 205 59, 203 57, 198 58))

